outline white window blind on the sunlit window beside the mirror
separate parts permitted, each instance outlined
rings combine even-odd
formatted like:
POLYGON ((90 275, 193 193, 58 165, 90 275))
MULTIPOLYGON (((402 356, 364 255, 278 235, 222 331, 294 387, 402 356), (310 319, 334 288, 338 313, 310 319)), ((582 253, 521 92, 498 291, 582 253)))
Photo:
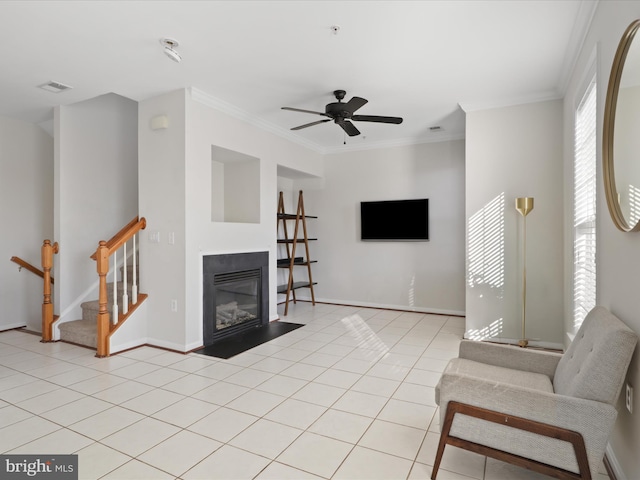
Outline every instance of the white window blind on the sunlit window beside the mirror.
POLYGON ((595 78, 576 109, 573 182, 573 323, 578 328, 596 304, 595 78))

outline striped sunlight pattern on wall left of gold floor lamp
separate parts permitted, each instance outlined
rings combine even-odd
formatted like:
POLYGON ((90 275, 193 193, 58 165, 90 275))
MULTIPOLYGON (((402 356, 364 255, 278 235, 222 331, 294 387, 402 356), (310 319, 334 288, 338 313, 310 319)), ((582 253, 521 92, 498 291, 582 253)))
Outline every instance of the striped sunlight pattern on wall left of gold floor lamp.
MULTIPOLYGON (((467 282, 478 298, 504 298, 504 197, 502 192, 469 218, 467 282)), ((484 340, 500 336, 503 318, 495 317, 486 327, 468 330, 467 337, 484 340)))

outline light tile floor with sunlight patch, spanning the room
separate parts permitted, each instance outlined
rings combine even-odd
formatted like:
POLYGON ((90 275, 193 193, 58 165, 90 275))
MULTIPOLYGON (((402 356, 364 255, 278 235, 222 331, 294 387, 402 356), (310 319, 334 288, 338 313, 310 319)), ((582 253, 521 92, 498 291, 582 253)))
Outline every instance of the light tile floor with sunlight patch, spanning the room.
MULTIPOLYGON (((428 479, 464 319, 303 302, 281 319, 305 326, 229 360, 0 333, 0 452, 77 453, 82 479, 428 479)), ((455 447, 438 474, 543 478, 455 447)))

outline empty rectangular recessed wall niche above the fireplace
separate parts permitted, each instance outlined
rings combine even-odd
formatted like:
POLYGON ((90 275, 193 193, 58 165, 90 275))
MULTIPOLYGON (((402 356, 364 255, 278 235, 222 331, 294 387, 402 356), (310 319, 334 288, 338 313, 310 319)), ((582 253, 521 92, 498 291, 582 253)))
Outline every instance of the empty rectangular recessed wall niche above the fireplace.
POLYGON ((211 221, 260 223, 260 159, 211 146, 211 221))

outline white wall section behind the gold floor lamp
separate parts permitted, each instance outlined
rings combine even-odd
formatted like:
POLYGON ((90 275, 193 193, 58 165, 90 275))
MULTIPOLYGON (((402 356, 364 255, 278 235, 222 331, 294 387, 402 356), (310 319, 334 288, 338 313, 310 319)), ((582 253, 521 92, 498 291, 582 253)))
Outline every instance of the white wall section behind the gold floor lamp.
POLYGON ((527 216, 526 337, 562 344, 562 102, 467 112, 466 336, 521 338, 522 217, 527 216))

